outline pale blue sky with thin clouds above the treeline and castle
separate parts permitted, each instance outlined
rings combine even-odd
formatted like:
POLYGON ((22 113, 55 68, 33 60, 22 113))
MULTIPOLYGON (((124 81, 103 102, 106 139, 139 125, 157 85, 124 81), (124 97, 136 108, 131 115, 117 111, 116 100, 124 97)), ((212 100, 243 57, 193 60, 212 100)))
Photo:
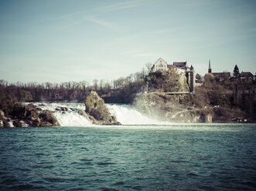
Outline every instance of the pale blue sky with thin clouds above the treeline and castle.
POLYGON ((111 81, 159 58, 256 72, 256 1, 0 0, 0 79, 111 81))

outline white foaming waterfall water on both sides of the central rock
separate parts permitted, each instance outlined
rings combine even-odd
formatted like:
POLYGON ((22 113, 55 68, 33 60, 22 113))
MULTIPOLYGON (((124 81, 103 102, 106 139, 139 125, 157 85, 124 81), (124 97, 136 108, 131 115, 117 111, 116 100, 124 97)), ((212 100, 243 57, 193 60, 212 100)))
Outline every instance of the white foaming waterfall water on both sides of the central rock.
MULTIPOLYGON (((29 104, 29 103, 26 103, 29 104)), ((92 126, 84 116, 80 116, 78 111, 84 110, 83 103, 47 103, 35 102, 33 103, 39 109, 48 109, 52 111, 60 126, 92 126), (61 108, 67 108, 67 111, 62 111, 61 108)), ((122 125, 166 125, 166 122, 161 122, 156 119, 151 119, 142 115, 135 108, 129 105, 110 105, 106 104, 111 114, 116 116, 118 122, 122 125)))

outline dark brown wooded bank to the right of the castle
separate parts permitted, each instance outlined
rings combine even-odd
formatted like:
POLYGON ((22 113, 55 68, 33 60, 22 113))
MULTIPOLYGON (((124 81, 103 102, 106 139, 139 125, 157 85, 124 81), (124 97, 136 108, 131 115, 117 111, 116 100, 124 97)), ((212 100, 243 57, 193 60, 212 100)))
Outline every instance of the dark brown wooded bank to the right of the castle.
POLYGON ((203 85, 193 93, 197 108, 210 107, 214 122, 232 122, 237 118, 256 120, 256 85, 254 81, 231 81, 228 76, 216 79, 212 74, 204 76, 203 85))

